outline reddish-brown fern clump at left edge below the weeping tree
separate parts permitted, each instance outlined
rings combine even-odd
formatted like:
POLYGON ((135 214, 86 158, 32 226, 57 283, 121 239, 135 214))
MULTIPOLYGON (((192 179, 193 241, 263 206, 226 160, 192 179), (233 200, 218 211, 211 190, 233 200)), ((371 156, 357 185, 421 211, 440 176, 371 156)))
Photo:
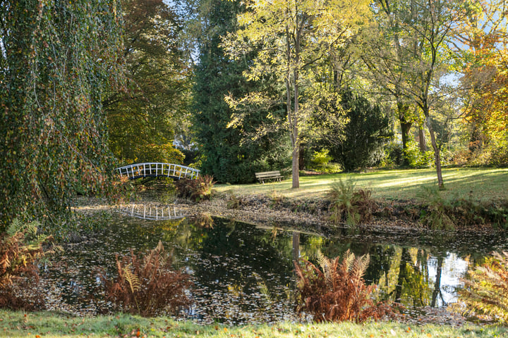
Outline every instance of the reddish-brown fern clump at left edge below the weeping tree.
POLYGON ((43 244, 52 237, 37 235, 39 223, 13 220, 0 235, 0 308, 34 310, 44 307, 40 294, 26 292, 37 282, 37 261, 52 250, 44 251, 43 244), (20 294, 23 290, 23 294, 20 294))

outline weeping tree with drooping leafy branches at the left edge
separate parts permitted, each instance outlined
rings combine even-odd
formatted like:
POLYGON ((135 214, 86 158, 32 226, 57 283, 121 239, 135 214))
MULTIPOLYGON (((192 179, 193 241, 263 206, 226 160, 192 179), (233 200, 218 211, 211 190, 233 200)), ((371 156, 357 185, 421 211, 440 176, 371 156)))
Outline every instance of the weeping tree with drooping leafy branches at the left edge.
POLYGON ((115 0, 0 1, 0 231, 13 218, 58 230, 76 184, 107 192, 102 93, 121 71, 115 0))

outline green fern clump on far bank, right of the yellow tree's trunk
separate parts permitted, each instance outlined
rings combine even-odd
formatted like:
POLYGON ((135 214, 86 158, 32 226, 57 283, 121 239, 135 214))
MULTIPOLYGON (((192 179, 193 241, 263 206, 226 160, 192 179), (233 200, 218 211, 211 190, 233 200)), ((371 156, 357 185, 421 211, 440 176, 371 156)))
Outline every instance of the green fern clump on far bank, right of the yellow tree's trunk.
POLYGON ((370 190, 355 189, 351 181, 334 182, 328 192, 330 220, 334 223, 345 221, 349 225, 368 222, 376 206, 370 190))

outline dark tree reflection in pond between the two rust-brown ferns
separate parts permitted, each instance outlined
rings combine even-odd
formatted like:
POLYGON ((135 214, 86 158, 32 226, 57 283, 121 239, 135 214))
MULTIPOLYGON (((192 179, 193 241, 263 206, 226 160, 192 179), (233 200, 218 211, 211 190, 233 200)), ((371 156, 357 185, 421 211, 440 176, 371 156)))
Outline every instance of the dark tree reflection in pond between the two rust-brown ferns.
POLYGON ((298 236, 273 238, 253 225, 237 230, 221 219, 201 231, 202 242, 189 263, 196 288, 206 293, 195 294, 198 306, 207 307, 205 315, 232 323, 277 318, 292 280, 293 240, 298 236))

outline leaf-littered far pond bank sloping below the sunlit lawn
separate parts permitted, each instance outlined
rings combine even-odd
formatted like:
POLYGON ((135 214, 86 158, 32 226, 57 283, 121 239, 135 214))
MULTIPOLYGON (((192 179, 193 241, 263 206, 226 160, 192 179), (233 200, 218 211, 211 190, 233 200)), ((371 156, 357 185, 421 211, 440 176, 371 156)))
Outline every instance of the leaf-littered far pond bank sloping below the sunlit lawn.
MULTIPOLYGON (((449 215, 456 218, 455 229, 433 229, 421 222, 423 214, 429 213, 428 204, 418 201, 377 201, 373 209, 373 217, 368 222, 348 225, 346 223, 334 223, 330 220, 329 201, 324 198, 317 199, 286 199, 265 195, 250 195, 231 197, 228 194, 214 196, 210 201, 192 203, 190 201, 176 201, 179 208, 185 210, 188 215, 209 213, 212 216, 233 218, 246 223, 284 223, 294 227, 304 227, 309 230, 313 228, 317 232, 326 232, 337 227, 355 227, 364 230, 382 230, 385 232, 437 232, 442 234, 443 230, 456 232, 499 232, 504 231, 502 225, 493 224, 487 219, 477 219, 476 223, 466 223, 468 214, 477 212, 468 210, 464 206, 457 206, 449 211, 449 215)), ((488 213, 488 204, 483 204, 488 213)), ((508 208, 500 207, 500 220, 508 217, 508 208), (506 213, 504 215, 503 213, 506 213)), ((507 220, 508 221, 508 220, 507 220)))

